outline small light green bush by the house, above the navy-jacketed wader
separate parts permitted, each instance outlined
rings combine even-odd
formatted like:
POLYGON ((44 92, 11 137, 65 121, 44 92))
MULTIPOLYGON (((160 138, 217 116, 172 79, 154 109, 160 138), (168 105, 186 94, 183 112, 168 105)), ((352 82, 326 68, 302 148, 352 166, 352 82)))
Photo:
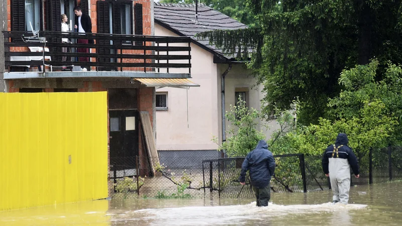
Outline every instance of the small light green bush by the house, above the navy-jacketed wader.
POLYGON ((218 144, 220 150, 225 150, 229 157, 246 156, 258 144, 258 141, 264 140, 265 135, 257 131, 257 119, 259 112, 254 108, 246 107, 246 102, 239 99, 237 106, 230 107, 230 112, 226 112, 226 119, 232 123, 226 133, 228 139, 222 145, 218 143, 218 138, 213 141, 218 144))

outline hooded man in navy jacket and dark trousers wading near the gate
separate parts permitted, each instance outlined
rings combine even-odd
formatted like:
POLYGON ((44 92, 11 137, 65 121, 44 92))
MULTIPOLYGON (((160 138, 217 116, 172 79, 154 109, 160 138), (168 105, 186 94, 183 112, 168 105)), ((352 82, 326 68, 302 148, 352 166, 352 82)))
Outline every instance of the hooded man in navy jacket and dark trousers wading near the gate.
POLYGON ((264 140, 260 140, 257 147, 244 159, 239 177, 242 185, 246 184, 247 170, 250 170, 251 185, 257 198, 257 206, 268 206, 271 198, 271 176, 275 172, 275 160, 272 152, 268 151, 268 145, 264 140))

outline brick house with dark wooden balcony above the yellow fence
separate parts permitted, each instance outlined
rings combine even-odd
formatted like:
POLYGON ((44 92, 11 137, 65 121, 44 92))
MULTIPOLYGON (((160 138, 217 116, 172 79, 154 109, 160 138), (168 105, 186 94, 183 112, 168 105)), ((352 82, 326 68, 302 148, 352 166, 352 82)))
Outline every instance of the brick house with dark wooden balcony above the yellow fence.
MULTIPOLYGON (((0 91, 107 91, 110 165, 119 170, 134 169, 136 156, 140 156, 140 165, 146 165, 144 143, 151 142, 154 136, 147 136, 144 131, 151 134, 156 131, 155 86, 198 86, 188 79, 191 78, 190 39, 154 36, 152 0, 0 1, 8 6, 7 14, 1 17, 4 26, 0 27, 0 91), (60 32, 61 14, 66 14, 68 24, 74 27, 75 6, 90 15, 92 34, 60 32), (82 37, 95 40, 94 44, 77 44, 76 39, 82 37), (68 38, 72 44, 61 43, 61 38, 68 38), (90 52, 77 53, 77 46, 89 48, 90 52), (40 47, 39 52, 30 51, 29 47, 40 47), (69 51, 61 52, 63 47, 69 51), (160 55, 161 51, 170 55, 160 55), (186 54, 176 56, 177 51, 186 54), (62 56, 68 60, 62 61, 62 56), (90 60, 79 61, 79 57, 90 60), (160 63, 163 59, 169 62, 160 63), (74 66, 90 69, 75 71, 74 66), (172 68, 183 70, 169 72, 172 68), (149 128, 141 121, 140 112, 149 116, 149 128)), ((148 172, 143 167, 140 173, 148 172)), ((130 175, 134 174, 133 171, 130 175)))

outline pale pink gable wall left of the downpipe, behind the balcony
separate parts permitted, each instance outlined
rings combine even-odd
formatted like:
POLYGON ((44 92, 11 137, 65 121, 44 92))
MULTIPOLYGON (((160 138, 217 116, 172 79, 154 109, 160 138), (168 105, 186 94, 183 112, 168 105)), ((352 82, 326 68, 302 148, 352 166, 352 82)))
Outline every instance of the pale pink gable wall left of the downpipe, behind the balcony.
MULTIPOLYGON (((157 24, 155 24, 155 35, 177 36, 157 24)), ((191 81, 200 87, 191 87, 188 90, 180 88, 156 90, 168 93, 168 110, 156 111, 157 150, 217 149, 217 145, 211 141, 213 135, 219 135, 220 93, 216 76, 217 65, 214 64, 210 52, 191 44, 191 66, 191 81)), ((188 69, 169 69, 169 72, 188 73, 188 69)))

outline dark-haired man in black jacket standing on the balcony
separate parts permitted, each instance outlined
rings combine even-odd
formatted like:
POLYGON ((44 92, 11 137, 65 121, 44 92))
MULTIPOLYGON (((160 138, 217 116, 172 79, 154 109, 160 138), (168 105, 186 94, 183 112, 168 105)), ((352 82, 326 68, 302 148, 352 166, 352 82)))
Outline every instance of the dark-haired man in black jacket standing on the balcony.
MULTIPOLYGON (((74 28, 78 29, 79 33, 92 33, 92 23, 89 15, 83 14, 82 9, 79 6, 74 7, 75 14, 75 25, 74 28)), ((93 44, 93 39, 78 39, 78 44, 93 44)), ((78 53, 89 53, 89 48, 77 48, 78 53)), ((79 57, 80 62, 88 62, 89 57, 79 57)), ((82 68, 83 71, 86 71, 89 67, 82 68)))

